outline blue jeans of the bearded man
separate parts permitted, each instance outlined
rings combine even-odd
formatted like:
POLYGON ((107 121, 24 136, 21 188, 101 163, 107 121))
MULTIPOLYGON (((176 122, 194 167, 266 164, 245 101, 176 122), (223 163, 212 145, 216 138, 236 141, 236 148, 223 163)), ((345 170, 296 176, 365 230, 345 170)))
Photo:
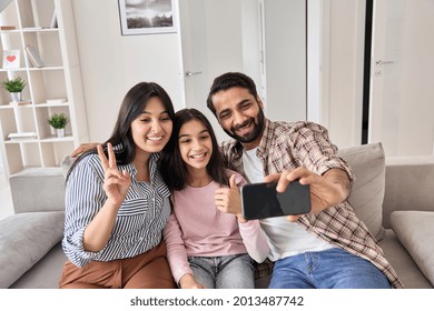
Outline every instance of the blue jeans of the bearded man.
POLYGON ((391 284, 369 261, 336 248, 277 260, 268 288, 391 289, 391 284))

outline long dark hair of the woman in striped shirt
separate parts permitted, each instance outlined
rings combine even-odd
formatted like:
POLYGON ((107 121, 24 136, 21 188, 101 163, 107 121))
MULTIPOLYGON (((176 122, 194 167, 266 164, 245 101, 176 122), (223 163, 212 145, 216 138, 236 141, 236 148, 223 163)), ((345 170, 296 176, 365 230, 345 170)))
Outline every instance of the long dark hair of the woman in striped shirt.
MULTIPOLYGON (((115 148, 116 161, 118 164, 131 163, 136 157, 136 143, 132 139, 131 123, 145 110, 149 99, 159 98, 165 107, 169 118, 174 120, 175 109, 169 94, 159 84, 155 82, 140 82, 134 86, 125 96, 119 109, 118 119, 111 137, 102 143, 102 149, 107 156, 107 143, 111 143, 115 148)), ((87 154, 98 153, 93 148, 83 152, 68 171, 67 180, 75 165, 87 154)))

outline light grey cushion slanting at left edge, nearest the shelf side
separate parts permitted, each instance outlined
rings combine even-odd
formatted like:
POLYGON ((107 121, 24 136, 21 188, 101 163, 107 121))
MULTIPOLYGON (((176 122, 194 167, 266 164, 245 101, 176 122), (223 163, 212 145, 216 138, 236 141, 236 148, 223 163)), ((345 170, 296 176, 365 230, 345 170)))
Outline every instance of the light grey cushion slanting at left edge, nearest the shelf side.
POLYGON ((0 221, 0 288, 9 288, 58 243, 61 211, 10 215, 0 221))

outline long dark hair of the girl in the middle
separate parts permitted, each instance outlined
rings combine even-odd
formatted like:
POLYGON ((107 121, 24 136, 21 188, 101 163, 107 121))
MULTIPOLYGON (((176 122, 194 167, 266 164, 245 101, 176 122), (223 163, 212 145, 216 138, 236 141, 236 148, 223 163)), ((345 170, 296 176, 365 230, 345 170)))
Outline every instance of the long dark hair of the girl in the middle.
POLYGON ((181 127, 191 120, 198 120, 201 122, 208 130, 211 138, 213 154, 206 168, 208 174, 214 181, 229 185, 229 179, 225 172, 224 159, 219 151, 213 126, 209 123, 204 113, 194 108, 181 109, 175 113, 174 130, 160 158, 160 171, 166 184, 170 190, 181 190, 187 185, 187 168, 179 152, 178 138, 181 127))

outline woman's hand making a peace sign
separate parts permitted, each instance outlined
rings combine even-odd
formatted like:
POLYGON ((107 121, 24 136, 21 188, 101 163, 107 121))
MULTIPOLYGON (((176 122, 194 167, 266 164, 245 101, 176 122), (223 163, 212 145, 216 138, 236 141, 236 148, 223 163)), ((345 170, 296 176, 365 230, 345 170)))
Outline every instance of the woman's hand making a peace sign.
POLYGON ((102 146, 97 147, 98 156, 105 173, 103 190, 107 201, 116 207, 120 207, 131 185, 131 177, 127 171, 120 172, 116 165, 116 157, 111 143, 107 143, 108 160, 103 153, 102 146))

